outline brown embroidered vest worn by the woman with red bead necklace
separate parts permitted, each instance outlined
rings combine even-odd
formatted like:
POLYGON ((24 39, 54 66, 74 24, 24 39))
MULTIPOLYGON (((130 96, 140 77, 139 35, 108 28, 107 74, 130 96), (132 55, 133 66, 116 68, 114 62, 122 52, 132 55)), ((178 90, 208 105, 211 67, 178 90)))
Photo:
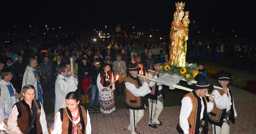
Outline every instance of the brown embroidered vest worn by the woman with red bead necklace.
MULTIPOLYGON (((84 108, 84 106, 79 106, 77 107, 79 109, 79 115, 80 115, 80 122, 82 124, 82 132, 83 134, 86 134, 86 125, 87 125, 87 113, 86 113, 86 109, 84 108), (83 115, 83 116, 82 116, 83 115)), ((60 109, 60 113, 61 113, 61 120, 62 120, 62 133, 64 134, 68 134, 68 133, 72 133, 72 127, 73 127, 73 123, 71 122, 71 120, 68 118, 67 113, 69 115, 69 117, 72 118, 72 114, 71 111, 69 111, 67 108, 62 108, 60 109)))

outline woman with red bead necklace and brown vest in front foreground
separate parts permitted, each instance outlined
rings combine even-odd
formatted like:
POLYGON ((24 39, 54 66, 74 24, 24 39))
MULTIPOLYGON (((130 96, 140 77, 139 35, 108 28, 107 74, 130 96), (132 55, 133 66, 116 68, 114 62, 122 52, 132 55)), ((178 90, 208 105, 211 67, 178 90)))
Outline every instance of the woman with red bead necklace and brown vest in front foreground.
POLYGON ((66 108, 55 114, 54 125, 51 130, 55 133, 88 134, 91 133, 91 123, 88 110, 79 104, 79 96, 72 91, 66 95, 66 108))

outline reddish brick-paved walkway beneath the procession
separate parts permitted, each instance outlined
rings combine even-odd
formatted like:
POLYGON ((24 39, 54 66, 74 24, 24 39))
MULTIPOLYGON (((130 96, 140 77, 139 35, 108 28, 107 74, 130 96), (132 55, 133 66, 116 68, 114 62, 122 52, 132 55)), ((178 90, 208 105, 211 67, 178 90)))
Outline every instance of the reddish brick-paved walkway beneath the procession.
MULTIPOLYGON (((226 66, 219 66, 227 72, 237 74, 244 78, 256 78, 253 73, 246 71, 232 71, 226 66), (227 69, 226 69, 227 68, 227 69)), ((217 85, 217 80, 208 77, 207 81, 217 85)), ((235 108, 238 113, 238 119, 235 124, 230 124, 230 133, 255 133, 256 134, 256 95, 249 91, 230 85, 234 94, 235 108)), ((180 106, 171 106, 164 108, 160 115, 163 126, 154 129, 147 126, 148 109, 145 110, 144 117, 138 123, 137 129, 141 133, 178 133, 176 126, 178 123, 180 106)), ((92 133, 130 133, 127 130, 129 125, 129 110, 117 110, 110 116, 101 115, 100 112, 89 112, 91 118, 92 133)), ((46 115, 48 125, 53 122, 54 115, 46 115)), ((209 133, 211 133, 211 125, 209 124, 209 133)))

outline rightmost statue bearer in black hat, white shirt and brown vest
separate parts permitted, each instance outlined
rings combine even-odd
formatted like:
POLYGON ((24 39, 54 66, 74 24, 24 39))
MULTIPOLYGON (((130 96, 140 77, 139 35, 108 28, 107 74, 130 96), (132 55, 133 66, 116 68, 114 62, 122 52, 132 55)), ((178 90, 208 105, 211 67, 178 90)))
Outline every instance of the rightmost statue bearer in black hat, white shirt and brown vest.
POLYGON ((215 96, 214 107, 212 112, 208 113, 213 133, 229 133, 229 120, 235 123, 235 119, 237 119, 234 98, 231 88, 228 86, 229 81, 227 74, 221 74, 218 82, 222 89, 213 89, 213 95, 215 96))

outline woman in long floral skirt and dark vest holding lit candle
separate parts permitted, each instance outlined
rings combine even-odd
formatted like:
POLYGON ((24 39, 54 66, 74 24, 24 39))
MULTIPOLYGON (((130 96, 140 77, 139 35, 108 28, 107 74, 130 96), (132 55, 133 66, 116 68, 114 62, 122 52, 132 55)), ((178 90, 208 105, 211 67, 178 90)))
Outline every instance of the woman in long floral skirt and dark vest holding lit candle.
POLYGON ((97 77, 97 86, 100 91, 100 111, 101 114, 109 115, 115 110, 114 103, 114 90, 115 85, 111 85, 114 82, 114 75, 110 71, 110 65, 108 63, 103 64, 103 72, 100 72, 97 77))

